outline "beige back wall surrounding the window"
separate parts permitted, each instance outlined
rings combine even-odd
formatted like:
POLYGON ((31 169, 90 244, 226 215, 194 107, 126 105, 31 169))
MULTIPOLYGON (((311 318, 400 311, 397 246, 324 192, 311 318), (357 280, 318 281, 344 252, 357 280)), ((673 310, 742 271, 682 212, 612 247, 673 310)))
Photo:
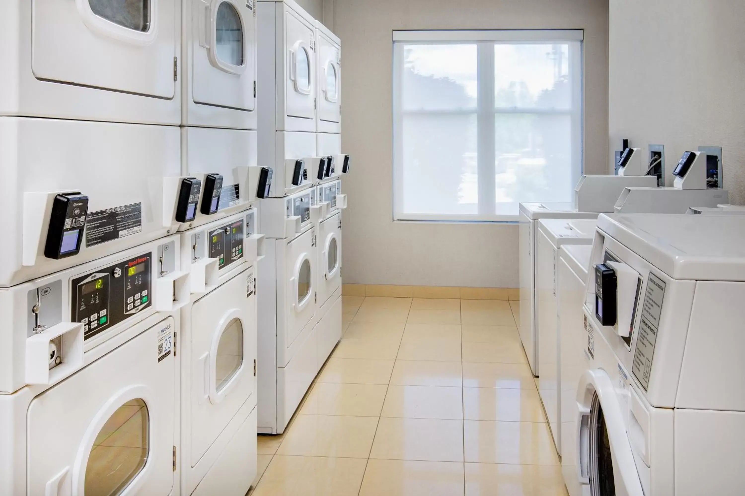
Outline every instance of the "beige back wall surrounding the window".
MULTIPOLYGON (((329 0, 326 0, 329 2, 329 0)), ((606 170, 607 0, 335 0, 342 40, 345 283, 516 287, 516 225, 393 222, 392 31, 585 30, 585 170, 606 170)))

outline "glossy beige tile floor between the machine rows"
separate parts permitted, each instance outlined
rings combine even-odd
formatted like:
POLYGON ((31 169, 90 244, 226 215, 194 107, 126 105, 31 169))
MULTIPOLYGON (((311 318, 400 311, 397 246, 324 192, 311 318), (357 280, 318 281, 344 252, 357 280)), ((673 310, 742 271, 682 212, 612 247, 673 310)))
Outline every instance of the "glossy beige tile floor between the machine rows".
POLYGON ((343 297, 344 335, 255 496, 566 495, 517 302, 343 297))

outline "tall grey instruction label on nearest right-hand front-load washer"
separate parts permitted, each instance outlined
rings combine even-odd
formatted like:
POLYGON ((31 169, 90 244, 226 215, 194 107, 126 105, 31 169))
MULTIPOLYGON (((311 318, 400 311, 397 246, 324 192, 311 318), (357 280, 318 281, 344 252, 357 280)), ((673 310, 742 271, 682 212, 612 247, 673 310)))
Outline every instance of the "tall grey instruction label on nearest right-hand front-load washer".
POLYGON ((647 292, 641 307, 641 325, 636 338, 636 350, 632 372, 647 390, 650 383, 654 346, 659 329, 659 316, 662 314, 662 300, 665 298, 665 281, 650 272, 647 279, 647 292))

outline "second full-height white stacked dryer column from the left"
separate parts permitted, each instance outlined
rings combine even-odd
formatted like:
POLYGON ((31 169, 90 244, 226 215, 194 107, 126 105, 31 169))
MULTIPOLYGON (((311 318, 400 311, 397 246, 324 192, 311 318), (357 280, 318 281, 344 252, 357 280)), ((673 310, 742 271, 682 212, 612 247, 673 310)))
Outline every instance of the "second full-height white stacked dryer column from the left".
POLYGON ((258 207, 272 175, 257 162, 256 4, 185 0, 181 32, 181 487, 242 496, 256 475, 258 207))

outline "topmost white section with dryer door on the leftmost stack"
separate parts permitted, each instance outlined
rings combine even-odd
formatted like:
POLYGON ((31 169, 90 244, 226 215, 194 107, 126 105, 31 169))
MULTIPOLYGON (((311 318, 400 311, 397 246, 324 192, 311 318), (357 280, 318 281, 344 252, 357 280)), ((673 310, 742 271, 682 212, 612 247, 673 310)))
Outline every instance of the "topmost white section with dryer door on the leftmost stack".
POLYGON ((0 115, 180 123, 180 1, 0 4, 0 115))

